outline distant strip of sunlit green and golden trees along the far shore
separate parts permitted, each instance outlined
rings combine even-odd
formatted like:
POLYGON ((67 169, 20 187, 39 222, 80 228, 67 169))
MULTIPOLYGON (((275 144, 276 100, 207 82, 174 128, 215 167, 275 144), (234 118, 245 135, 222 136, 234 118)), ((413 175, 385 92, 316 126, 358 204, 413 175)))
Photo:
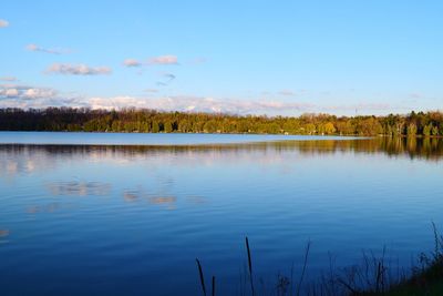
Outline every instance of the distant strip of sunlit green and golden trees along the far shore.
POLYGON ((0 109, 1 131, 138 132, 138 133, 255 133, 309 135, 443 135, 442 112, 406 115, 298 118, 213 113, 122 111, 48 108, 0 109))

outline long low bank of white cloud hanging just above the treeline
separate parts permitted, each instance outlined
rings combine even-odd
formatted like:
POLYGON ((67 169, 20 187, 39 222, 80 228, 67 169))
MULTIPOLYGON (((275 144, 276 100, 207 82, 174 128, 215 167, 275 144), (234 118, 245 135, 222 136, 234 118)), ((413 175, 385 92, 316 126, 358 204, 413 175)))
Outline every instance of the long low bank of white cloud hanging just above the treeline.
POLYGON ((75 96, 59 94, 50 88, 21 84, 0 84, 0 108, 42 109, 48 106, 91 108, 122 110, 127 108, 152 109, 158 111, 209 112, 230 114, 300 115, 302 113, 332 114, 385 114, 388 112, 409 112, 411 108, 383 102, 360 102, 356 104, 315 104, 302 101, 277 100, 233 100, 208 96, 175 95, 162 96, 157 90, 146 90, 145 96, 75 96))

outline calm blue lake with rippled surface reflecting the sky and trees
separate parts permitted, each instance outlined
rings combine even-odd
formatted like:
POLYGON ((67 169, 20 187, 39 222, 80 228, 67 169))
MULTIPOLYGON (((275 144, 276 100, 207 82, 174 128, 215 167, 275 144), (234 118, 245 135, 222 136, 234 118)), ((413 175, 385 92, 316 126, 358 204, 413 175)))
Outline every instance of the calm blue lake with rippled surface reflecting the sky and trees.
MULTIPOLYGON (((443 226, 443 141, 0 133, 2 295, 239 295, 363 251, 409 267, 443 226)), ((249 294, 247 294, 249 295, 249 294)))

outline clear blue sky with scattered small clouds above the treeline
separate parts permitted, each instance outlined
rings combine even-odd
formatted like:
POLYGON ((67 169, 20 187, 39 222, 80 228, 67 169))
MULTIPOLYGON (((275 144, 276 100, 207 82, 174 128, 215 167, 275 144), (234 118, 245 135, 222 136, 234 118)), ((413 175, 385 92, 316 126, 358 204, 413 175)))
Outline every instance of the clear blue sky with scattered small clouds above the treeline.
POLYGON ((4 0, 0 108, 443 109, 442 14, 442 1, 4 0))

